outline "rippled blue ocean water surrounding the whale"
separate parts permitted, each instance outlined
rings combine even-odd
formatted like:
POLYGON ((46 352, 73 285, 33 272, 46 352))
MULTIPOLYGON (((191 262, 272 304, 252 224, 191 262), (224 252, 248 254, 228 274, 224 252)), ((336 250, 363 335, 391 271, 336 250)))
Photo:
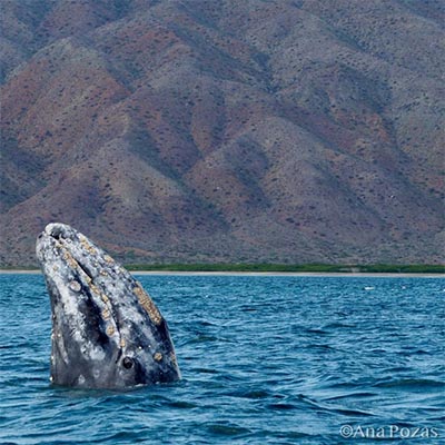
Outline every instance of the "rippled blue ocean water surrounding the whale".
POLYGON ((1 444, 445 443, 445 280, 139 276, 182 380, 49 383, 40 275, 0 275, 1 444))

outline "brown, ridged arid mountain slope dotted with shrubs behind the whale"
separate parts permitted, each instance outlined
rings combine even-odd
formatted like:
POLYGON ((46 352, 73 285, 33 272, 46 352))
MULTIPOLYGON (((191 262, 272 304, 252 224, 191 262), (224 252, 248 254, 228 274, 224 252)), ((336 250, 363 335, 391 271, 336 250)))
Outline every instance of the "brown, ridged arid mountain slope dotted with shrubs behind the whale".
POLYGON ((435 0, 2 0, 0 263, 443 263, 435 0))

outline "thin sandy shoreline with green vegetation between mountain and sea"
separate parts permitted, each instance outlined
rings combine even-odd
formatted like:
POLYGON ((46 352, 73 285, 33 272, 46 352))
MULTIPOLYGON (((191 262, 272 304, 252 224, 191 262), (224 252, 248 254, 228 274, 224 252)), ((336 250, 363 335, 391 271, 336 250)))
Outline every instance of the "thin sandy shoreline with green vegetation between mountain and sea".
MULTIPOLYGON (((434 273, 366 273, 366 271, 177 271, 129 270, 131 275, 185 275, 185 276, 245 276, 245 277, 369 277, 369 278, 445 278, 434 273)), ((41 275, 39 269, 0 269, 0 275, 41 275)))

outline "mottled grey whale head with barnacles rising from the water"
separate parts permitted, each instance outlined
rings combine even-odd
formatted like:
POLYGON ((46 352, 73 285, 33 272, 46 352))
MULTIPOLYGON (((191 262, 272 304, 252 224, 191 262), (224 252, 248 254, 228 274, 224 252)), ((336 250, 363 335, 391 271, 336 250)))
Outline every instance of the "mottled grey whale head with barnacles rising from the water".
POLYGON ((128 388, 180 378, 167 323, 142 286, 70 226, 37 239, 52 310, 56 385, 128 388))

